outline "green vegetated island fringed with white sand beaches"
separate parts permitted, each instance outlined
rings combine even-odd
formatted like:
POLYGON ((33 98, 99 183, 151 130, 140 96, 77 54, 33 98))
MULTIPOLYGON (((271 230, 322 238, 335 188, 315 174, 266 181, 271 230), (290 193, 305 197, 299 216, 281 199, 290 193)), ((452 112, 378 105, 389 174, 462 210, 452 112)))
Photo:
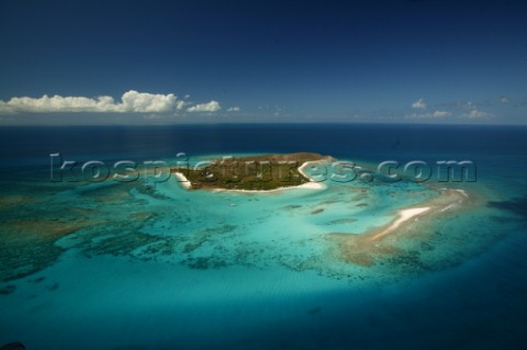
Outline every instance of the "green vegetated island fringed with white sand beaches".
POLYGON ((288 188, 321 189, 304 171, 307 166, 330 161, 314 153, 224 157, 171 171, 189 190, 277 191, 288 188))

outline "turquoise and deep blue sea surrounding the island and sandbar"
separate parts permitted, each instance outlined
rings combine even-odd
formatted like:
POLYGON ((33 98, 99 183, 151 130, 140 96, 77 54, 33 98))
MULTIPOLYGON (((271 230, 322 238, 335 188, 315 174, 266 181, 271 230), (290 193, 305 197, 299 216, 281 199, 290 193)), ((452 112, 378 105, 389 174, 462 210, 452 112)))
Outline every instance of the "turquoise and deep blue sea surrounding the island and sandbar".
POLYGON ((1 127, 0 160, 0 346, 527 349, 526 127, 1 127), (365 169, 421 161, 431 174, 232 193, 162 173, 162 161, 296 151, 365 169), (112 179, 122 160, 136 181, 112 179), (472 161, 475 181, 439 181, 442 160, 472 161), (89 161, 108 179, 82 173, 89 161), (330 239, 441 189, 470 200, 404 226, 372 263, 346 261, 330 239))

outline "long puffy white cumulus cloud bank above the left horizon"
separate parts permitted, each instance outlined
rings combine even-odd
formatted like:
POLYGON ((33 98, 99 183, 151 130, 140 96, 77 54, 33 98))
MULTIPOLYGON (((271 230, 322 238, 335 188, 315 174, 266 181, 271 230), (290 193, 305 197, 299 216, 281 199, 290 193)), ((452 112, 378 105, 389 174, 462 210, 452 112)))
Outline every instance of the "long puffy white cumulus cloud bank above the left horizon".
POLYGON ((178 100, 173 93, 154 94, 130 90, 122 95, 121 102, 108 95, 86 98, 45 94, 42 98, 12 98, 7 102, 0 100, 0 113, 167 113, 182 110, 188 104, 178 100))

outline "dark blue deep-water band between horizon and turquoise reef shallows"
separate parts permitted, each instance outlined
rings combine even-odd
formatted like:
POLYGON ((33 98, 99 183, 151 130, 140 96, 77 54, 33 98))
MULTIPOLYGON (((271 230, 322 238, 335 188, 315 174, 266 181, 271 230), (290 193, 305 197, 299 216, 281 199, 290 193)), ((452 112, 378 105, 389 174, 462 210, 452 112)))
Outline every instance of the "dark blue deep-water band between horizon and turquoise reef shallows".
POLYGON ((53 151, 104 158, 299 150, 374 160, 414 154, 498 157, 524 155, 526 132, 525 126, 375 124, 2 127, 0 156, 3 167, 47 160, 53 151))

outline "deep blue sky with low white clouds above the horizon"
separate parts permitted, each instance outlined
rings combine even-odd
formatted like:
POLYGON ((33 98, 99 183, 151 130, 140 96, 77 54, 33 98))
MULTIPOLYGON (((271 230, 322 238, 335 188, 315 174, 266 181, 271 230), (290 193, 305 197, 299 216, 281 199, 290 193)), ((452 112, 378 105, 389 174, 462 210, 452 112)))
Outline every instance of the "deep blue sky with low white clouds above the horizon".
POLYGON ((527 124, 527 1, 0 2, 0 125, 527 124))

